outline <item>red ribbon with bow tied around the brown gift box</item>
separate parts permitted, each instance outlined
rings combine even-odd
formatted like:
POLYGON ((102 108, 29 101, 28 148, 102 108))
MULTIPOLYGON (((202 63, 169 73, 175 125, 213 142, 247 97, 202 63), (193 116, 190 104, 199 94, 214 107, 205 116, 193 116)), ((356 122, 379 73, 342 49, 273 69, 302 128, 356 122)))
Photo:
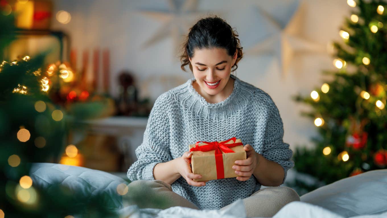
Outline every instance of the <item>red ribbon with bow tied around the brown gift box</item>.
POLYGON ((223 167, 223 153, 235 153, 235 151, 229 149, 229 147, 235 147, 237 145, 243 145, 242 142, 235 143, 236 137, 230 138, 223 142, 204 142, 206 145, 199 146, 200 142, 196 142, 196 146, 190 149, 191 151, 212 151, 215 150, 215 163, 216 163, 216 176, 218 179, 224 178, 224 167, 223 167), (229 141, 234 141, 232 144, 226 144, 229 141))

